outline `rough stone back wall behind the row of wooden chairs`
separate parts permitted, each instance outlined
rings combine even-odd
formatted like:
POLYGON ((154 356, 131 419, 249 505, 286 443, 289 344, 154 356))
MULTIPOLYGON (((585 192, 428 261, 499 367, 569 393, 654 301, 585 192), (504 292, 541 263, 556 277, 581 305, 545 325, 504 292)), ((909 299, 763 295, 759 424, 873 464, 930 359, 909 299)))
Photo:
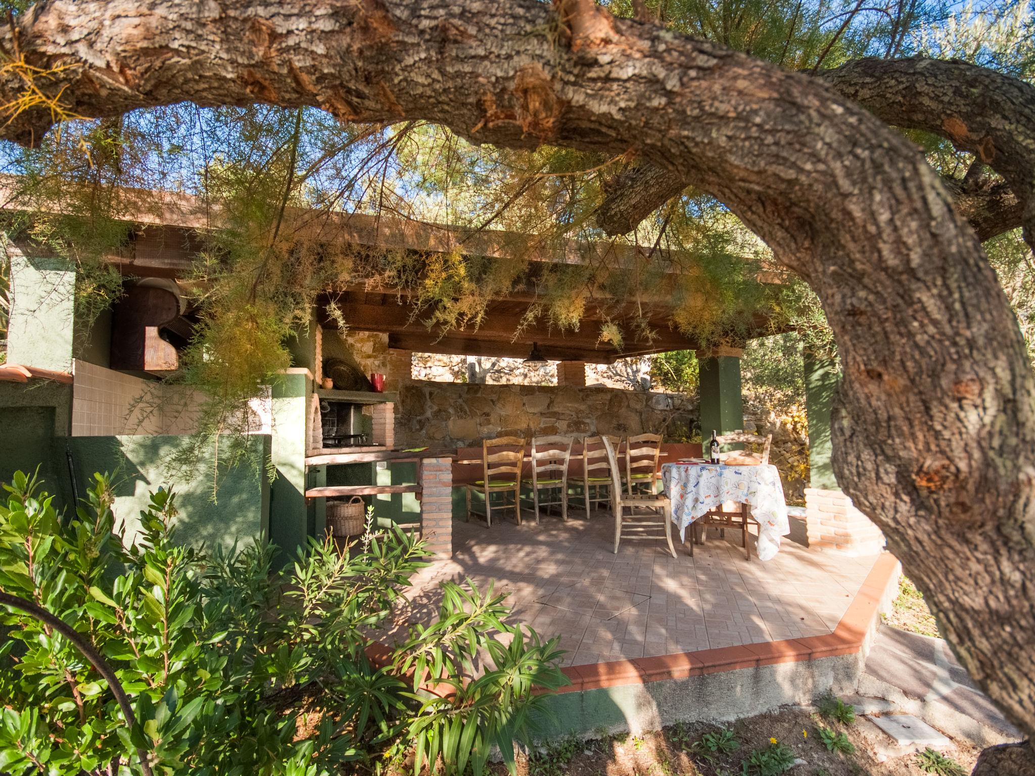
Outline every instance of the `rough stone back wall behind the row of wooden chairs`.
POLYGON ((683 438, 697 400, 678 394, 414 381, 400 390, 396 445, 471 447, 492 437, 661 434, 683 438))

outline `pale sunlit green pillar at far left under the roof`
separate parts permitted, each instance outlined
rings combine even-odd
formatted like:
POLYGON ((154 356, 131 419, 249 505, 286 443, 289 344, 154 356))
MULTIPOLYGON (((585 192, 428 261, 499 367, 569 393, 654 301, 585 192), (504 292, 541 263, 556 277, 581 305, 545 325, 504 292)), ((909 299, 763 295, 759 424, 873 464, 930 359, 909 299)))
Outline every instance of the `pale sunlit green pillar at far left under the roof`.
POLYGON ((71 371, 76 267, 53 257, 10 256, 10 320, 7 361, 56 371, 71 371))

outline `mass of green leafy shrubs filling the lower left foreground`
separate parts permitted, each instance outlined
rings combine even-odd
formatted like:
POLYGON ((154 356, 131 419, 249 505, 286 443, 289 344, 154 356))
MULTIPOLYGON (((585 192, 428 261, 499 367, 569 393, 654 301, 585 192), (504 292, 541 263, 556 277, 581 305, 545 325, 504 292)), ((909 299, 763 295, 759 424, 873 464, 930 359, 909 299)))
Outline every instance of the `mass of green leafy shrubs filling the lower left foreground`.
POLYGON ((92 645, 137 724, 68 638, 0 606, 0 772, 128 774, 139 748, 167 775, 319 776, 345 762, 381 772, 410 754, 414 771, 479 774, 493 745, 512 764, 511 741, 531 735, 533 688, 565 681, 556 641, 508 624, 492 590, 453 584, 438 620, 373 664, 371 633, 425 565, 402 531, 368 531, 351 557, 314 541, 276 571, 269 544, 179 546, 168 490, 126 548, 107 476, 67 525, 34 478, 4 487, 0 591, 92 645), (436 682, 438 695, 425 689, 436 682))

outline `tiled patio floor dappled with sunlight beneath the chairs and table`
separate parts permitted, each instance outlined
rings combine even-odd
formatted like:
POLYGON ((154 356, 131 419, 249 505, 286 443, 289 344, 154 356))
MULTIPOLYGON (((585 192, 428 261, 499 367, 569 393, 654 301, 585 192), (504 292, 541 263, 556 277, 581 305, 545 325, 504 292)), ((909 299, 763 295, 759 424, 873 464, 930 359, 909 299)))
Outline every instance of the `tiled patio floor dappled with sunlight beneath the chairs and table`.
MULTIPOLYGON (((792 537, 804 534, 796 528, 792 537)), ((454 521, 453 558, 415 578, 413 617, 437 605, 442 579, 495 579, 515 621, 561 636, 565 665, 692 652, 830 633, 877 559, 810 553, 786 537, 773 560, 752 551, 747 561, 739 532, 723 540, 714 530, 693 558, 678 533, 675 559, 650 540, 625 541, 614 555, 613 536, 603 512, 539 526, 531 515, 489 529, 454 521)))

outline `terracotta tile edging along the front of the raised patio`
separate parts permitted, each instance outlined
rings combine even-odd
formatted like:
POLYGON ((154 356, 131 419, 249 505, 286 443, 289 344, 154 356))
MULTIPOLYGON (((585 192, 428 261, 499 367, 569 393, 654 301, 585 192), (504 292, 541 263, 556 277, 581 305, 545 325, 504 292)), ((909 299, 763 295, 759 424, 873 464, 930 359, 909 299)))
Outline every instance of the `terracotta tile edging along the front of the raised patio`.
POLYGON ((898 561, 890 553, 884 553, 877 559, 833 633, 632 660, 572 665, 562 669, 571 684, 555 692, 581 692, 600 687, 686 679, 738 668, 853 655, 862 649, 863 640, 874 618, 878 616, 881 599, 897 564, 898 561))

